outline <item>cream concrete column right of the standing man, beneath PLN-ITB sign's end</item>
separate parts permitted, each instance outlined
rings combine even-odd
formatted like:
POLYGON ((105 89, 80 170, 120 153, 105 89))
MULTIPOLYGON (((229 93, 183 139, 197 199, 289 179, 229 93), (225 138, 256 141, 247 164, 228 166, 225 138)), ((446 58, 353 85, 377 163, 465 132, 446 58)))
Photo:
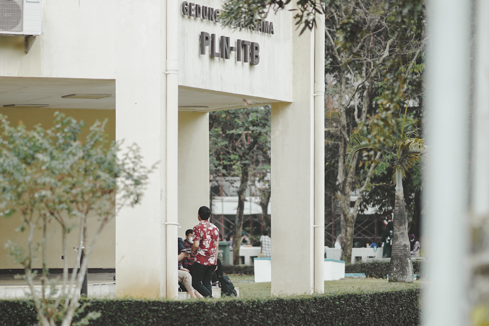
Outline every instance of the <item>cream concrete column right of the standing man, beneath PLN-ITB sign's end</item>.
POLYGON ((272 295, 314 289, 314 34, 299 32, 294 26, 293 102, 271 110, 272 295))

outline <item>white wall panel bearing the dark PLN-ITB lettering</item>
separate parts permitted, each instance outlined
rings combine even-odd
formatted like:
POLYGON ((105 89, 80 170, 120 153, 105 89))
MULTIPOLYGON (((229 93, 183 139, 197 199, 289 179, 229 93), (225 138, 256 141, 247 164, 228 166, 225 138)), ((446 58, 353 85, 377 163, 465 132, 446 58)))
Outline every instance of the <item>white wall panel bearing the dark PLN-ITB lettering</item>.
MULTIPOLYGON (((200 0, 196 3, 222 9, 224 1, 200 0)), ((179 1, 181 3, 181 1, 179 1)), ((221 24, 183 16, 178 12, 180 23, 180 60, 178 84, 236 93, 255 97, 265 97, 281 101, 292 101, 292 19, 290 12, 272 12, 267 18, 273 22, 275 34, 261 33, 247 29, 236 30, 221 24), (260 63, 250 65, 236 61, 236 52, 230 59, 218 59, 206 54, 200 55, 200 32, 214 33, 216 36, 230 37, 231 46, 236 40, 258 42, 260 63)), ((177 31, 176 28, 176 31, 177 31)), ((219 51, 219 49, 218 49, 219 51)))

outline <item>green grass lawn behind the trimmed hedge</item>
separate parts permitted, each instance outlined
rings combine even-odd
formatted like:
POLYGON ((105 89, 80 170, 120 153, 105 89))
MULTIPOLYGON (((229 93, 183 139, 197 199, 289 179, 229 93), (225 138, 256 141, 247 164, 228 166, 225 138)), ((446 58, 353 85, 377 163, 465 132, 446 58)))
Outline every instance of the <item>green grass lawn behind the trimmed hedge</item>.
MULTIPOLYGON (((254 283, 253 275, 229 274, 229 279, 235 287, 240 288, 241 299, 257 299, 270 297, 271 283, 254 283)), ((423 281, 407 283, 389 283, 386 279, 341 279, 339 281, 325 281, 325 294, 344 294, 372 291, 396 291, 401 289, 418 288, 423 281)))

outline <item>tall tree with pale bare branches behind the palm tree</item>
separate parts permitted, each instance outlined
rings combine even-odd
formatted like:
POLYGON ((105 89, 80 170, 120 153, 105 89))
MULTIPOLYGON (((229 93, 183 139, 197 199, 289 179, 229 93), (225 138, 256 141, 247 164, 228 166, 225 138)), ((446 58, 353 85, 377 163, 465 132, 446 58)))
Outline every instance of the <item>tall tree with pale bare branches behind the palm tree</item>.
MULTIPOLYGON (((338 183, 330 192, 337 191, 341 204, 345 261, 351 260, 356 217, 377 169, 375 159, 369 166, 348 164, 351 132, 379 106, 390 107, 386 101, 397 106, 406 88, 421 93, 421 14, 419 1, 337 0, 326 8, 326 151, 337 151, 326 168, 337 167, 338 183), (358 196, 352 207, 353 191, 358 196)), ((356 162, 358 153, 351 160, 356 162)))

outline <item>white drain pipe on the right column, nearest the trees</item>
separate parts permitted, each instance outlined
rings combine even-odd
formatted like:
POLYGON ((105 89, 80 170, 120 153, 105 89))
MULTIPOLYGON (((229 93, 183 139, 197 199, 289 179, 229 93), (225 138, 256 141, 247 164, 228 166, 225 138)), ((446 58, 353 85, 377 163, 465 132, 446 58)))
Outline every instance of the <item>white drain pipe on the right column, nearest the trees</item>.
POLYGON ((324 293, 324 14, 314 30, 314 293, 324 293))

